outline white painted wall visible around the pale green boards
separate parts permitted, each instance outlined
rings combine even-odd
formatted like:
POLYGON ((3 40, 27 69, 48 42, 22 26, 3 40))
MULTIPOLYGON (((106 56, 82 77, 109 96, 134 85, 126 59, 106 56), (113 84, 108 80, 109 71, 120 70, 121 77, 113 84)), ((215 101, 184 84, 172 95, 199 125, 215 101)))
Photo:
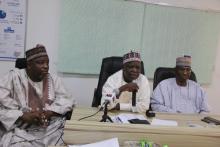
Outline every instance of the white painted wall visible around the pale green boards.
MULTIPOLYGON (((61 0, 28 0, 28 23, 26 48, 36 44, 44 44, 50 57, 50 71, 56 72, 57 51, 59 43, 59 14, 61 0)), ((162 0, 161 0, 162 1, 162 0)), ((166 0, 167 1, 167 0, 166 0)), ((173 0, 172 0, 173 1, 173 0)), ((178 1, 178 0, 176 0, 178 1)), ((189 2, 189 1, 188 1, 189 2)), ((216 0, 203 0, 202 5, 215 5, 216 0)), ((218 5, 220 8, 220 5, 218 5)), ((217 51, 212 83, 203 85, 208 95, 208 102, 212 113, 220 114, 220 37, 217 51)), ((3 76, 14 67, 14 62, 0 61, 0 76, 3 76)), ((197 73, 198 74, 198 73, 197 73)), ((98 77, 62 75, 67 89, 76 98, 78 105, 91 106, 94 88, 97 86, 98 77)), ((152 81, 151 81, 152 87, 152 81)))

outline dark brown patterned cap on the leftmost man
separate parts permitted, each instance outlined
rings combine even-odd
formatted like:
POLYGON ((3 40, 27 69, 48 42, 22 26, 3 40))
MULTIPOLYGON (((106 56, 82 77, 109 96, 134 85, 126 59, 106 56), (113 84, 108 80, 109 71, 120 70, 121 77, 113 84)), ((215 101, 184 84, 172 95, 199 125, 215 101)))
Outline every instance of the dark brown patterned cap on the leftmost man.
POLYGON ((41 44, 37 44, 36 47, 27 50, 25 52, 27 61, 36 59, 42 56, 48 56, 45 47, 41 44))

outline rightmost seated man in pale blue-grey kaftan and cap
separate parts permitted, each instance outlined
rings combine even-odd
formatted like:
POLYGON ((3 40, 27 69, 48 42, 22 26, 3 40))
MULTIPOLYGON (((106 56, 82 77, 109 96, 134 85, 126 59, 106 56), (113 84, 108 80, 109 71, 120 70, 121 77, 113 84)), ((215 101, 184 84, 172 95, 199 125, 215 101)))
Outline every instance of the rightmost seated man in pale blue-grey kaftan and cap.
POLYGON ((171 113, 206 113, 208 104, 205 91, 189 80, 191 57, 176 60, 176 78, 161 81, 151 96, 153 111, 171 113))

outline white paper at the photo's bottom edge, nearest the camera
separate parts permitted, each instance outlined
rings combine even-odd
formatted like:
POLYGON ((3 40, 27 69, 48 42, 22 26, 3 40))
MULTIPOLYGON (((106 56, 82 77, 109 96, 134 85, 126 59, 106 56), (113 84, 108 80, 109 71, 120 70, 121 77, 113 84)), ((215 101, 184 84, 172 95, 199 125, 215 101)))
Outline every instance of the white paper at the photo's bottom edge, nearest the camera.
POLYGON ((119 147, 118 138, 112 138, 85 145, 68 145, 68 147, 119 147))

